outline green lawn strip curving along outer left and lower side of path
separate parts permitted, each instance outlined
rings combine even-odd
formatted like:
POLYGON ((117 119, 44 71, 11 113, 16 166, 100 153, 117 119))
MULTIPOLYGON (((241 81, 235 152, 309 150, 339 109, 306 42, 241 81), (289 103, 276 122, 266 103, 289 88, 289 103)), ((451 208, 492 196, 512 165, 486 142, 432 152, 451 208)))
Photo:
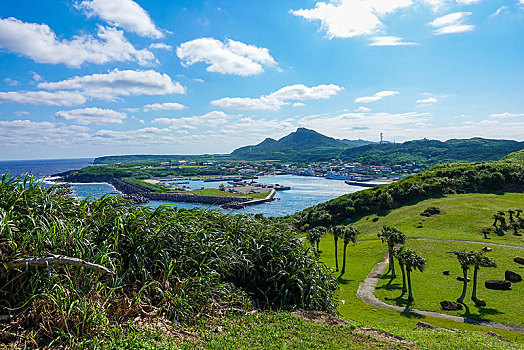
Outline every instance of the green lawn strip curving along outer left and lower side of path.
MULTIPOLYGON (((331 235, 326 235, 320 243, 322 250, 321 259, 326 265, 333 269, 334 243, 331 235)), ((494 331, 507 339, 517 340, 519 346, 524 346, 524 334, 493 330, 485 327, 458 323, 438 318, 424 317, 413 314, 384 310, 369 306, 356 296, 358 286, 363 281, 373 266, 382 260, 386 246, 380 241, 360 241, 356 245, 350 244, 347 249, 346 273, 339 279, 338 298, 341 303, 338 312, 342 317, 352 320, 358 324, 376 327, 400 335, 415 342, 423 348, 440 349, 485 349, 495 348, 493 338, 484 337, 485 333, 494 331), (412 331, 418 321, 429 322, 435 326, 455 329, 456 333, 439 332, 434 330, 412 331)), ((421 252, 422 253, 422 252, 421 252)), ((342 243, 339 241, 339 264, 342 263, 342 243)), ((458 265, 458 264, 457 264, 458 265)), ((451 267, 450 267, 451 268, 451 267)), ((338 277, 339 273, 333 272, 338 277)), ((483 278, 486 271, 481 271, 483 278)), ((416 283, 416 282, 414 282, 416 283)), ((419 296, 418 285, 414 285, 415 298, 419 296)), ((460 294, 460 291, 459 291, 460 294)), ((479 290, 479 297, 484 297, 479 290)), ((458 296, 457 296, 458 297, 458 296)), ((455 297, 455 299, 457 298, 455 297)), ((439 300, 440 301, 440 300, 439 300)), ((516 305, 516 304, 515 304, 516 305)), ((489 304, 488 304, 489 307, 489 304)), ((502 343, 496 342, 502 347, 502 343)))

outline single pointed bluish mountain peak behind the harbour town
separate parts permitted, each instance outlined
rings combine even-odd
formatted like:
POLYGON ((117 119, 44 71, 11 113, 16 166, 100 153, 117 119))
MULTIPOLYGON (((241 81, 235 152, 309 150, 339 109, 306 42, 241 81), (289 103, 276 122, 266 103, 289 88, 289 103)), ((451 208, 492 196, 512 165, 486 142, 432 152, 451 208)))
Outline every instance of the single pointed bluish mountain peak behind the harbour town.
POLYGON ((348 147, 342 140, 298 128, 278 141, 267 138, 258 145, 238 148, 231 156, 247 160, 319 161, 337 157, 348 147))

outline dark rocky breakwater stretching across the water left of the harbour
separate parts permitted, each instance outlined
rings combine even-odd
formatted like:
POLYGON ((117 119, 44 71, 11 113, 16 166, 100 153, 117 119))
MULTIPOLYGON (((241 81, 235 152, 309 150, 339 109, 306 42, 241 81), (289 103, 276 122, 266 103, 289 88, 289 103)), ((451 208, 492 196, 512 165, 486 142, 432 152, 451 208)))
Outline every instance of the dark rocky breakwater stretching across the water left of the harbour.
POLYGON ((200 196, 188 193, 157 193, 138 185, 129 183, 121 179, 111 179, 109 182, 118 191, 122 192, 122 196, 126 199, 132 200, 138 204, 144 204, 150 200, 166 201, 166 202, 184 202, 184 203, 202 203, 202 204, 242 204, 248 202, 250 199, 246 197, 232 197, 232 196, 200 196))

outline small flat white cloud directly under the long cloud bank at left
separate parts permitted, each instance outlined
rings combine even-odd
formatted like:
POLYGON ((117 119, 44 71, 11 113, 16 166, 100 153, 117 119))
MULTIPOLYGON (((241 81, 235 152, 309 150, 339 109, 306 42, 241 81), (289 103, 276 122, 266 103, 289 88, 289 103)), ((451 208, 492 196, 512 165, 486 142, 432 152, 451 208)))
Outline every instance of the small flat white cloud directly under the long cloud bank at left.
POLYGON ((112 109, 102 108, 83 108, 71 111, 58 111, 55 118, 73 121, 80 125, 102 125, 102 124, 122 124, 127 118, 125 113, 120 113, 112 109))

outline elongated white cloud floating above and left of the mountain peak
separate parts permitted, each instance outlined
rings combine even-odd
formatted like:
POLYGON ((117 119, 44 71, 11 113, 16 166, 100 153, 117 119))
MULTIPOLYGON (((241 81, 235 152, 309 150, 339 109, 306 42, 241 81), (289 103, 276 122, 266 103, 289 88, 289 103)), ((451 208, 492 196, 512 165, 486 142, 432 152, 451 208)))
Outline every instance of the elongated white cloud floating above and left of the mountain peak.
POLYGON ((328 99, 338 94, 343 88, 337 85, 317 85, 307 87, 302 84, 283 87, 269 95, 259 98, 225 97, 211 101, 212 105, 223 108, 243 110, 278 110, 289 101, 328 99))

